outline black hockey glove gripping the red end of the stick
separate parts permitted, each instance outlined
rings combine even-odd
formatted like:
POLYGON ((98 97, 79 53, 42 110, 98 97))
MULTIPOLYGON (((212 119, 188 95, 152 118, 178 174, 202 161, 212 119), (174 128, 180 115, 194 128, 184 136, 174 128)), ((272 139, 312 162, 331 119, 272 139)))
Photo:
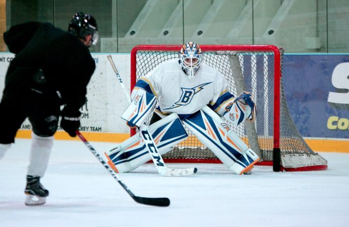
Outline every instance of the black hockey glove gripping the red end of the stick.
POLYGON ((79 110, 69 111, 64 108, 62 111, 61 127, 71 137, 76 136, 75 131, 80 127, 80 115, 79 110))

